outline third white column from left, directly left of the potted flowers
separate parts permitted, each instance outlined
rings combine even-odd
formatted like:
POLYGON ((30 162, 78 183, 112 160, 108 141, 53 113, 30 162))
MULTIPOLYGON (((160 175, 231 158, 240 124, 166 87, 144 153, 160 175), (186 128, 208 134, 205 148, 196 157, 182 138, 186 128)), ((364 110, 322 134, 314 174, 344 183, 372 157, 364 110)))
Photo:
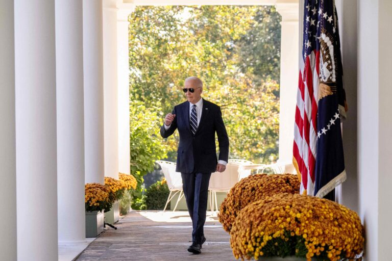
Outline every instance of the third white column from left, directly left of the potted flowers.
POLYGON ((56 0, 59 244, 85 242, 83 2, 56 0))

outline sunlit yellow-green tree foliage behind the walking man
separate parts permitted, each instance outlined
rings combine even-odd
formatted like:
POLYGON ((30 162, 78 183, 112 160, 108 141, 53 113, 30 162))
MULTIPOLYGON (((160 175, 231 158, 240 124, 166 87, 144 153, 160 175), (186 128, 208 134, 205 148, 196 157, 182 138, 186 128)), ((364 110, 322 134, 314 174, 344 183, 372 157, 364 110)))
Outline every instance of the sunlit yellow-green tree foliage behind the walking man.
MULTIPOLYGON (((203 97, 222 109, 230 158, 276 159, 280 16, 274 7, 137 7, 129 20, 131 100, 166 114, 185 100, 186 77, 199 76, 203 97)), ((157 131, 162 122, 163 115, 157 131)), ((171 160, 177 142, 176 133, 164 143, 171 160)))

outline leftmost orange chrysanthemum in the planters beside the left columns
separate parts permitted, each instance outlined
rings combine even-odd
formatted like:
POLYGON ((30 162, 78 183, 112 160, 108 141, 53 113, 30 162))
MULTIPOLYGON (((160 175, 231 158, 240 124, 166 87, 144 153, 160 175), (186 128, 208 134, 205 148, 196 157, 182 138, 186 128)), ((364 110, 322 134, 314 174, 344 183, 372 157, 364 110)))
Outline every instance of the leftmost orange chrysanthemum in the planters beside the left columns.
POLYGON ((109 202, 109 189, 98 183, 88 183, 84 186, 85 207, 87 212, 108 210, 111 207, 109 202))

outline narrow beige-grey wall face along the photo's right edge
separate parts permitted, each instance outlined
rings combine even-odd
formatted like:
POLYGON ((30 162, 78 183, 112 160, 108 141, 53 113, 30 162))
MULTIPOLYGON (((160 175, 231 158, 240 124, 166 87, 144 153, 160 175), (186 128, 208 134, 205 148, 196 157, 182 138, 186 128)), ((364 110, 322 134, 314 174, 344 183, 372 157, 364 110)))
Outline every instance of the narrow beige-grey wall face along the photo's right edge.
POLYGON ((378 3, 378 260, 389 261, 392 259, 392 1, 378 3))

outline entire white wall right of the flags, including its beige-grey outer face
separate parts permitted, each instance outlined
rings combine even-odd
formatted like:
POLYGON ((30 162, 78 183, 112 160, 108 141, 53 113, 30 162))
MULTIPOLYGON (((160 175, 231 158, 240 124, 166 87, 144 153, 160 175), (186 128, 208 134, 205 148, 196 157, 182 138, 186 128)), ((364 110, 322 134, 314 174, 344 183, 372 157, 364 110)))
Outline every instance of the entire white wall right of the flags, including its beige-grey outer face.
POLYGON ((388 261, 392 225, 392 69, 389 0, 358 2, 358 181, 365 260, 388 261))

